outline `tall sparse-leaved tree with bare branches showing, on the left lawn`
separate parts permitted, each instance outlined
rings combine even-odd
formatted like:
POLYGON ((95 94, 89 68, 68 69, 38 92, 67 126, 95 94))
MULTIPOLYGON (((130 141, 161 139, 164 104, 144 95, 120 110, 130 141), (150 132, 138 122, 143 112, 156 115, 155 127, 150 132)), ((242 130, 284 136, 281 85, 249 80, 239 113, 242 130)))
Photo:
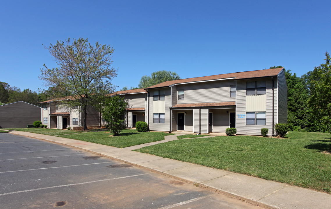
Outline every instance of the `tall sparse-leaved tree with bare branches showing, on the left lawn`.
POLYGON ((81 106, 83 112, 83 128, 87 129, 87 108, 100 103, 106 94, 114 92, 116 86, 111 80, 117 75, 117 69, 111 67, 113 47, 92 45, 88 39, 70 38, 57 41, 55 45, 45 47, 58 67, 41 68, 40 80, 45 86, 57 87, 59 97, 66 99, 68 106, 81 106))

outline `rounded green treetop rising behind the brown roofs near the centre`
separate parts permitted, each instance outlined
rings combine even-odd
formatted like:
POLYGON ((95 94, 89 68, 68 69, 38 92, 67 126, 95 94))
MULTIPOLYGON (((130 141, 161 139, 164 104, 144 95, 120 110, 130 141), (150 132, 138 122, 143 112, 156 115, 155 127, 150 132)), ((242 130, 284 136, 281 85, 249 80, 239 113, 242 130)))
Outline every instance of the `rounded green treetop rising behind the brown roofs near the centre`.
POLYGON ((166 81, 174 81, 178 79, 180 79, 180 76, 177 73, 166 70, 160 70, 153 72, 151 76, 145 75, 141 77, 138 87, 147 88, 150 86, 161 84, 166 81))

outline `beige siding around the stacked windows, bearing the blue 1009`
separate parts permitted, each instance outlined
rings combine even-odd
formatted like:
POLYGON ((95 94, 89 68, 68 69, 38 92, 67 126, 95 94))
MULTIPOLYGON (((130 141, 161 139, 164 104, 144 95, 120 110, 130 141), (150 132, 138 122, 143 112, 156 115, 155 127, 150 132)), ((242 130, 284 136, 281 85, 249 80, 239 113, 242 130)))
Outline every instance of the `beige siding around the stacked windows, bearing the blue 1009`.
MULTIPOLYGON (((274 78, 274 122, 277 120, 277 79, 274 78)), ((261 128, 268 128, 268 135, 272 135, 272 80, 248 79, 237 81, 237 101, 236 101, 236 128, 237 134, 261 135, 261 128), (238 118, 238 114, 246 115, 246 82, 266 81, 266 125, 246 125, 246 118, 238 118)))

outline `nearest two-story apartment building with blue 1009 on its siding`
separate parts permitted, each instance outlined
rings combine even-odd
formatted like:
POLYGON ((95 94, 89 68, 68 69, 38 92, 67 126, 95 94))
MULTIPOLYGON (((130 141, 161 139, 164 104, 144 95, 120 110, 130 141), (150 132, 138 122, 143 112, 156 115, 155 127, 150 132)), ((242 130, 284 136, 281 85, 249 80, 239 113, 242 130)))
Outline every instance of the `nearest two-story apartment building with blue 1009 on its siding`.
POLYGON ((260 135, 287 122, 284 68, 167 81, 145 88, 146 121, 152 131, 260 135))

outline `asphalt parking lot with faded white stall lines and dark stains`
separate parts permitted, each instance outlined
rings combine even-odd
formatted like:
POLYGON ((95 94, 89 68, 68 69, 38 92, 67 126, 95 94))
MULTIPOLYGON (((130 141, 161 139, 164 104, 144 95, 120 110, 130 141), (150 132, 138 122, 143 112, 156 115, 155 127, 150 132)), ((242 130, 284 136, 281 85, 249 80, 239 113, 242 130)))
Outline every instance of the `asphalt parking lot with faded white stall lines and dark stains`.
POLYGON ((260 208, 120 161, 0 133, 0 208, 260 208))

